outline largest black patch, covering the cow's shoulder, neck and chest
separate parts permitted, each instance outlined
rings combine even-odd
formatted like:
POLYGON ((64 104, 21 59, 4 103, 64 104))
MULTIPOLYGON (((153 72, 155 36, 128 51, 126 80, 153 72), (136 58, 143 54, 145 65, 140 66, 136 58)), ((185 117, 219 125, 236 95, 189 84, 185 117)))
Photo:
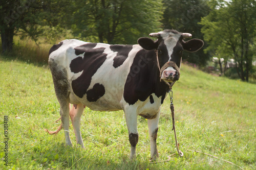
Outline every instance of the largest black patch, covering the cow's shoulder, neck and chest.
POLYGON ((134 58, 124 85, 125 102, 133 105, 138 100, 145 101, 152 93, 158 98, 165 96, 169 87, 163 81, 160 82, 159 75, 155 51, 140 50, 134 58))

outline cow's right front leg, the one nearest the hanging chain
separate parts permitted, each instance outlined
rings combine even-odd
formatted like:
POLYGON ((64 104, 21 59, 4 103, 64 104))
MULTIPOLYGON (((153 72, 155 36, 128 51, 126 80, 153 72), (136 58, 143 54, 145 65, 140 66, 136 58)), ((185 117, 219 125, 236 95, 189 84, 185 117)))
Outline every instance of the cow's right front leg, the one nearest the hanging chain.
POLYGON ((157 132, 158 132, 159 117, 160 117, 160 109, 157 113, 156 118, 147 120, 148 132, 150 133, 151 159, 153 160, 156 160, 159 157, 158 151, 157 151, 157 132))

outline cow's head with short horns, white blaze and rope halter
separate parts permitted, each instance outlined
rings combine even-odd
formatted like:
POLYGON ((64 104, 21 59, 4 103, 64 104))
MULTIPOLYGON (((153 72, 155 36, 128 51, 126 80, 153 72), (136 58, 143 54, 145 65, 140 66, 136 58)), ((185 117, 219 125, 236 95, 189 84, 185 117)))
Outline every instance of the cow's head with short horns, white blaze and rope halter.
POLYGON ((184 41, 190 38, 189 33, 180 33, 176 30, 164 30, 158 33, 151 33, 151 37, 157 37, 156 41, 151 38, 142 37, 138 43, 145 50, 156 50, 159 66, 161 68, 160 77, 166 82, 179 80, 179 68, 183 51, 197 52, 204 45, 200 39, 184 41))

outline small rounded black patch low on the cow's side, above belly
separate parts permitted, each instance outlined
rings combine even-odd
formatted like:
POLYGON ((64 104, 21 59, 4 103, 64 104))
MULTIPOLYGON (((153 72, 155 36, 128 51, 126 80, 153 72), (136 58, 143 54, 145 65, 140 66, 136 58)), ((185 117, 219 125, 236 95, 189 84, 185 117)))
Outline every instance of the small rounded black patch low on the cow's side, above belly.
POLYGON ((96 83, 86 94, 89 102, 96 102, 105 94, 105 88, 102 84, 96 83))

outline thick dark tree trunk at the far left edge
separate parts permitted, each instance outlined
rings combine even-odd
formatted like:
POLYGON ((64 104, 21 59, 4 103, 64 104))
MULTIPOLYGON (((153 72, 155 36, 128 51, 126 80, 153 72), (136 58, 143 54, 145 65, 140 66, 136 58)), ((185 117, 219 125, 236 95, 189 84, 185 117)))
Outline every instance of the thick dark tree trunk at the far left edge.
POLYGON ((14 28, 3 27, 0 30, 3 53, 10 52, 13 45, 14 28))

